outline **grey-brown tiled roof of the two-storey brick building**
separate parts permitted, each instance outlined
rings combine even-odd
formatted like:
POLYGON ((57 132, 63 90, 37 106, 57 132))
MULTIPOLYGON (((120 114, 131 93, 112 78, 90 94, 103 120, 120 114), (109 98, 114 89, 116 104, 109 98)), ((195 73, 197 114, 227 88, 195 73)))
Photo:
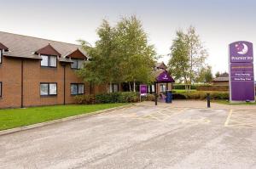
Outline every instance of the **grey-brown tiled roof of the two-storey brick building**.
POLYGON ((77 50, 78 48, 80 51, 83 51, 81 46, 76 44, 67 42, 56 42, 38 37, 27 37, 12 33, 6 33, 3 31, 0 31, 0 42, 3 43, 4 46, 9 48, 9 51, 3 53, 3 55, 26 59, 41 59, 41 57, 38 56, 38 54, 35 54, 35 52, 38 51, 38 49, 44 48, 49 44, 53 48, 55 48, 58 53, 61 54, 62 58, 67 56, 67 54, 73 53, 73 51, 77 50))

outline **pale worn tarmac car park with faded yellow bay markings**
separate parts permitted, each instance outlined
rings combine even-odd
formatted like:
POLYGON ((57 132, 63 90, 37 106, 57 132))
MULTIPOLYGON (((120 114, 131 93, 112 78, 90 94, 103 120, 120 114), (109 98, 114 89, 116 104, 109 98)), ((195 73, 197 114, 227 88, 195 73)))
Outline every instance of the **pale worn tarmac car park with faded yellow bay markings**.
POLYGON ((137 104, 0 137, 0 168, 256 168, 256 110, 137 104))

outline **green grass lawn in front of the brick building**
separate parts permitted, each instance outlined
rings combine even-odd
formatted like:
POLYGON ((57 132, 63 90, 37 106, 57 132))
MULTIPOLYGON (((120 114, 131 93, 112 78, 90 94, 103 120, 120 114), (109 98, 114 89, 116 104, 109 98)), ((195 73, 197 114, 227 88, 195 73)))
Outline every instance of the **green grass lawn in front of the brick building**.
POLYGON ((125 104, 55 105, 26 109, 0 110, 0 131, 52 121, 73 115, 91 113, 125 104))

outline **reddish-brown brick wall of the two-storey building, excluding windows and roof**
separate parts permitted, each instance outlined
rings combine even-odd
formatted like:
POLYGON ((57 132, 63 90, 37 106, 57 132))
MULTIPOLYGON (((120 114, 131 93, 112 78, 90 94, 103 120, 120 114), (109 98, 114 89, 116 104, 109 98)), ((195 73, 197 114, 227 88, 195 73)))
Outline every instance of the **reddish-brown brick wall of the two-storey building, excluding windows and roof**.
MULTIPOLYGON (((25 107, 38 105, 64 104, 64 67, 58 62, 56 68, 41 67, 40 60, 24 59, 23 104, 25 107), (56 96, 40 96, 40 82, 56 82, 56 96)), ((74 103, 71 83, 83 83, 70 65, 66 65, 66 104, 74 103)), ((21 106, 21 60, 3 57, 0 65, 0 82, 3 82, 3 96, 0 109, 21 106)), ((85 94, 90 93, 89 83, 84 84, 85 94)), ((93 93, 104 93, 106 87, 96 86, 93 93)))

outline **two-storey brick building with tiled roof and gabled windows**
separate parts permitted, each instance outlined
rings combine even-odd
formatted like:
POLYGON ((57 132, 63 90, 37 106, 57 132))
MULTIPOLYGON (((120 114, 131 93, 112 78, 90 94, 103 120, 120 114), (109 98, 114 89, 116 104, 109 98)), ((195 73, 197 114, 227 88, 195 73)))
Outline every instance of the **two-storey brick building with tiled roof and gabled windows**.
POLYGON ((74 96, 105 92, 76 75, 79 45, 0 32, 0 108, 73 104, 74 96))

